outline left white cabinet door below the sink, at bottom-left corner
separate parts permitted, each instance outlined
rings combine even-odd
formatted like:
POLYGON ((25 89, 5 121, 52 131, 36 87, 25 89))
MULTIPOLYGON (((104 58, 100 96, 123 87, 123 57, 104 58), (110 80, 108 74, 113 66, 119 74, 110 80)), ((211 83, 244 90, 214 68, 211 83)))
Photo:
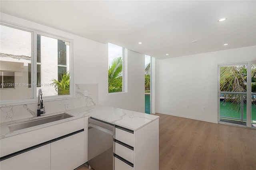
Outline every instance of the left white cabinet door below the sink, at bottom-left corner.
POLYGON ((1 170, 50 170, 50 144, 0 162, 1 170))

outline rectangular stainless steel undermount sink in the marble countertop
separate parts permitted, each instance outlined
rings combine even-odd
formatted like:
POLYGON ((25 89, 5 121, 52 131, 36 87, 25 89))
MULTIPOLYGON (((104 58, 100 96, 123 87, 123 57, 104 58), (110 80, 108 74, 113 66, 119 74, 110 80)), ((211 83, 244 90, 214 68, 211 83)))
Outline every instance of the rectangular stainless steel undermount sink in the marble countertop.
POLYGON ((28 127, 34 127, 34 126, 37 126, 37 125, 42 125, 42 124, 45 124, 45 123, 59 121, 59 120, 67 119, 67 118, 70 118, 70 117, 73 117, 73 116, 68 115, 66 113, 62 113, 62 114, 59 114, 59 115, 53 115, 53 116, 49 116, 49 117, 42 117, 42 118, 34 119, 34 120, 31 120, 31 121, 24 121, 24 122, 15 123, 15 124, 9 124, 8 127, 9 127, 10 132, 13 132, 15 130, 20 130, 20 129, 28 128, 28 127))

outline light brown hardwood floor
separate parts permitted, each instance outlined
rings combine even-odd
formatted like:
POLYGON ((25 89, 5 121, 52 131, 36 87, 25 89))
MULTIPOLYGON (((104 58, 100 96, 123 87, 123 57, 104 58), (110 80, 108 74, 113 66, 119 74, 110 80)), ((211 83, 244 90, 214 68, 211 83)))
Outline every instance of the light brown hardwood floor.
POLYGON ((156 115, 159 170, 256 170, 256 129, 156 115))

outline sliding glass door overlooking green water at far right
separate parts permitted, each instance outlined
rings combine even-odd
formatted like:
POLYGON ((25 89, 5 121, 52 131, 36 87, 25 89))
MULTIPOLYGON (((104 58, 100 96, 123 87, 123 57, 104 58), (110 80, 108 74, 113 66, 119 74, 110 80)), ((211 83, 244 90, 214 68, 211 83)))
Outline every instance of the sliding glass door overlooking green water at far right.
POLYGON ((256 65, 219 65, 219 122, 256 127, 256 65))

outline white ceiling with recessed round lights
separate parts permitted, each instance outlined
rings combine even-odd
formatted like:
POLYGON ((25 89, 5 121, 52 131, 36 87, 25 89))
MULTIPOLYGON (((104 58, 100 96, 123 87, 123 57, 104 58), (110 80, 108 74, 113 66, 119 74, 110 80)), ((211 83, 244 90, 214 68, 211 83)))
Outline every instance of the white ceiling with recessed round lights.
POLYGON ((255 0, 1 0, 0 12, 158 59, 256 45, 255 0))

